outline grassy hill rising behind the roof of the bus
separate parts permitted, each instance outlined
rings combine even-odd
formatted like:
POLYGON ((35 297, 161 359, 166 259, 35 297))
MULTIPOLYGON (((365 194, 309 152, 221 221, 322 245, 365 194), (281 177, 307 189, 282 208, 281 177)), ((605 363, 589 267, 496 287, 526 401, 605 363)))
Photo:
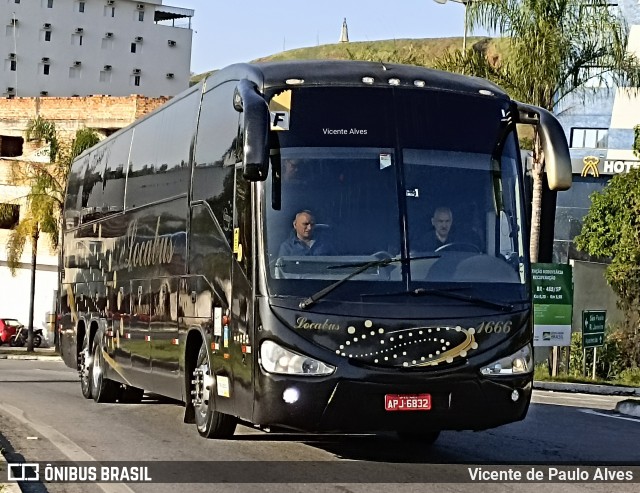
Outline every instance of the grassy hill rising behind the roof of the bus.
MULTIPOLYGON (((480 50, 491 60, 499 63, 505 52, 504 40, 487 37, 468 37, 467 46, 480 50)), ((412 65, 433 66, 436 58, 447 51, 462 48, 462 38, 389 39, 381 41, 359 41, 297 48, 253 60, 272 62, 283 60, 372 60, 389 62, 400 60, 412 65)), ((194 75, 195 84, 212 72, 194 75)))

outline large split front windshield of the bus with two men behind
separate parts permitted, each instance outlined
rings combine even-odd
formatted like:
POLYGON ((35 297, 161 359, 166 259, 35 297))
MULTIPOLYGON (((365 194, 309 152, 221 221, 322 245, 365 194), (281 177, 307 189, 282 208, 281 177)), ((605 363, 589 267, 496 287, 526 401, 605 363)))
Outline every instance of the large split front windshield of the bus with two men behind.
POLYGON ((490 141, 465 140, 468 123, 459 121, 459 141, 438 139, 435 128, 420 139, 418 126, 381 147, 281 146, 263 194, 270 294, 305 297, 348 277, 327 298, 490 285, 496 301, 525 299, 517 141, 499 131, 499 118, 484 120, 490 141))

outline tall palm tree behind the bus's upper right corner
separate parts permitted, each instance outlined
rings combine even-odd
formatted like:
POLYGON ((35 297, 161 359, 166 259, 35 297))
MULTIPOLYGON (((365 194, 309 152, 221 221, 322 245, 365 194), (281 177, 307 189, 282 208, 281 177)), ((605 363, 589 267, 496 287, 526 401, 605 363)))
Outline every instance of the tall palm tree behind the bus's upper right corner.
MULTIPOLYGON (((627 52, 627 25, 601 0, 477 0, 468 4, 468 22, 505 36, 507 55, 491 64, 471 48, 446 54, 437 68, 488 78, 522 102, 553 112, 567 96, 585 95, 587 82, 640 85, 638 59, 627 52)), ((537 134, 533 142, 530 253, 537 262, 544 156, 537 134)))

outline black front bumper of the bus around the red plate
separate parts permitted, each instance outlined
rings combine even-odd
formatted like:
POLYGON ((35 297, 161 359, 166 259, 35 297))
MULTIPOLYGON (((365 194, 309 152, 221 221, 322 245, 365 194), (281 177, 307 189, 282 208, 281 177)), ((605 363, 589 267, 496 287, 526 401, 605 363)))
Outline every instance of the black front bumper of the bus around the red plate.
POLYGON ((526 416, 533 376, 465 378, 413 383, 263 375, 254 423, 310 432, 483 430, 526 416), (516 391, 516 392, 514 392, 516 391), (387 411, 385 395, 429 394, 431 408, 387 411))

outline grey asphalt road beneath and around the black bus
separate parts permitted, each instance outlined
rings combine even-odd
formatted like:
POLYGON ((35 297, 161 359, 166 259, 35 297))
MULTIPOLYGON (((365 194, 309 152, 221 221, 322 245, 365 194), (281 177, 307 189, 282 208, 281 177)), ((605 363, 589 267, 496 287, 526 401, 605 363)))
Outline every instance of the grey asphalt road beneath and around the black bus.
MULTIPOLYGON (((18 457, 86 464, 154 461, 157 465, 165 461, 167 471, 161 471, 166 473, 165 481, 174 474, 176 483, 186 478, 197 483, 207 474, 208 481, 218 482, 216 491, 386 492, 390 487, 407 492, 511 491, 511 487, 496 484, 457 482, 469 480, 468 469, 475 467, 469 464, 494 464, 485 469, 500 471, 526 464, 521 466, 523 472, 538 468, 547 475, 554 466, 576 470, 588 464, 623 462, 635 471, 636 482, 616 485, 616 491, 637 492, 640 418, 613 412, 622 399, 535 391, 526 420, 478 433, 444 432, 432 447, 384 436, 265 433, 246 426, 238 427, 233 440, 216 441, 200 438, 193 425, 182 423, 183 409, 178 403, 146 396, 137 405, 96 404, 82 397, 76 373, 59 361, 0 360, 0 435, 5 438, 3 446, 18 457), (176 461, 188 462, 177 468, 176 461), (198 469, 200 466, 207 470, 198 469), (273 482, 279 474, 283 483, 317 484, 283 486, 273 482), (354 480, 372 484, 352 483, 354 480), (445 480, 451 484, 443 484, 445 480)), ((619 465, 614 469, 627 470, 619 465)), ((523 483, 517 487, 526 492, 539 486, 523 483)), ((42 484, 40 489, 37 485, 30 488, 23 491, 144 493, 174 491, 176 486, 48 483, 46 490, 42 484)), ((189 485, 189 491, 211 488, 189 485)), ((610 491, 611 485, 554 483, 545 488, 592 493, 610 491)))

